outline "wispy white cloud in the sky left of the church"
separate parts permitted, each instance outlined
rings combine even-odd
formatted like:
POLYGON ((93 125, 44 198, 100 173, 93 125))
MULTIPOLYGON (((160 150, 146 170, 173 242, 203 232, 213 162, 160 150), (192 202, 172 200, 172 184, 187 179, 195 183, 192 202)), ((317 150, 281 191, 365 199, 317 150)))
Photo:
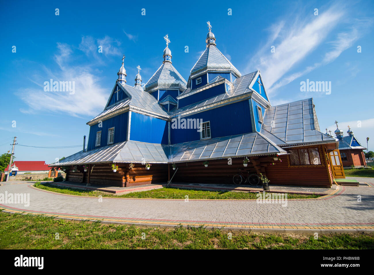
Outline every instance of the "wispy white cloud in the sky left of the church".
POLYGON ((43 84, 44 81, 74 81, 75 92, 45 92, 44 85, 37 88, 20 89, 17 96, 28 105, 28 109, 20 109, 24 113, 36 113, 40 111, 50 111, 56 113, 68 113, 72 116, 94 116, 102 111, 109 91, 102 88, 98 81, 98 75, 92 74, 89 69, 82 65, 68 65, 72 50, 66 44, 58 43, 58 54, 55 61, 59 69, 53 71, 43 67, 34 83, 43 84))

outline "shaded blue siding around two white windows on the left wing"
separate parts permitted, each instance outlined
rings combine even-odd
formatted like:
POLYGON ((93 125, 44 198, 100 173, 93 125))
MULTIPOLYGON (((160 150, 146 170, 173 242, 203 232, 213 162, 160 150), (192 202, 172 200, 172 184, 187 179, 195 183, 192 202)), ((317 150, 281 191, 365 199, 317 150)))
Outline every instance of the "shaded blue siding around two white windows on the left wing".
POLYGON ((114 143, 123 142, 126 140, 127 133, 127 121, 129 112, 116 115, 115 117, 108 118, 102 121, 102 127, 99 127, 99 123, 96 123, 90 127, 90 134, 88 137, 87 150, 92 150, 99 147, 108 145, 108 129, 114 127, 114 143), (101 131, 101 142, 100 146, 95 146, 96 132, 101 131))

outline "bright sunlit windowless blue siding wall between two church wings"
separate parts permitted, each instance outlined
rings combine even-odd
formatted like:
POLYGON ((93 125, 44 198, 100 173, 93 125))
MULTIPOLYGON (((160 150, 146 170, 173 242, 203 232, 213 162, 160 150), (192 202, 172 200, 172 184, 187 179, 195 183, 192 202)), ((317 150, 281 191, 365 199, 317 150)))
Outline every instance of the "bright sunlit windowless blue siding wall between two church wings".
POLYGON ((131 112, 130 139, 168 144, 168 122, 160 118, 131 112))

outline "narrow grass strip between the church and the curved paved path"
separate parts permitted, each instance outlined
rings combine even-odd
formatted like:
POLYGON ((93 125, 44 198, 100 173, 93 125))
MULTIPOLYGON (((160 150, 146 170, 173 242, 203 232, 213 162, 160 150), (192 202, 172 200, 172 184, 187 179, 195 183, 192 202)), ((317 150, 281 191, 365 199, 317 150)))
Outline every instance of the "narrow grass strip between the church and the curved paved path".
MULTIPOLYGON (((252 192, 233 192, 233 191, 203 191, 192 189, 178 189, 178 188, 160 188, 149 191, 134 192, 124 195, 114 195, 100 191, 88 191, 82 189, 72 189, 64 186, 56 186, 50 183, 45 183, 37 186, 40 189, 54 191, 70 195, 94 196, 102 195, 103 197, 117 197, 117 198, 163 198, 163 199, 185 199, 188 195, 189 199, 256 199, 256 193, 252 192)), ((289 199, 298 198, 318 198, 319 195, 297 195, 288 194, 289 199)))

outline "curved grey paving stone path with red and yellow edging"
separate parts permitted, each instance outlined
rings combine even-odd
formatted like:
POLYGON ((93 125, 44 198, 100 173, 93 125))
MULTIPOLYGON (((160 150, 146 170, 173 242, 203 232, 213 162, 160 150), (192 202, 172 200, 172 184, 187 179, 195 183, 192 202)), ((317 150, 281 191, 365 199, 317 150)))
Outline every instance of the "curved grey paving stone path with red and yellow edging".
POLYGON ((30 182, 1 182, 0 194, 30 194, 30 205, 8 202, 0 203, 0 208, 12 212, 107 222, 226 226, 267 231, 373 231, 374 178, 355 179, 370 186, 339 186, 334 194, 318 199, 288 199, 287 206, 259 204, 256 200, 185 201, 105 197, 99 200, 97 197, 37 189, 30 182), (360 197, 361 201, 358 201, 360 197))

